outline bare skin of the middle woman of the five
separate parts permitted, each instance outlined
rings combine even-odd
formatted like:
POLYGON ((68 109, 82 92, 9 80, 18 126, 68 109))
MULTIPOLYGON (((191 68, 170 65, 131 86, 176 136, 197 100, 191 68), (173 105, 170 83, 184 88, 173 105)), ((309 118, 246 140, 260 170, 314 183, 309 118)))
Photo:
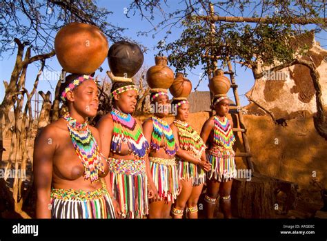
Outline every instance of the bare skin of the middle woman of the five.
MULTIPOLYGON (((159 95, 155 99, 154 102, 151 104, 155 104, 157 102, 158 106, 159 105, 165 105, 168 106, 170 105, 169 99, 166 95, 159 95)), ((155 116, 158 118, 164 118, 169 115, 168 108, 166 109, 164 113, 158 113, 155 112, 155 116)), ((151 143, 151 135, 153 131, 153 124, 152 124, 152 119, 147 119, 145 122, 143 122, 143 133, 146 139, 148 140, 149 143, 151 143)), ((149 157, 159 157, 159 158, 165 158, 165 159, 173 159, 174 157, 167 155, 164 150, 164 142, 161 143, 159 151, 150 151, 149 157)), ((152 186, 152 189, 155 189, 155 195, 150 200, 150 207, 149 207, 149 218, 170 218, 170 208, 172 202, 165 202, 164 200, 159 201, 157 200, 158 197, 158 191, 157 188, 155 187, 155 184, 153 183, 153 180, 151 178, 150 186, 152 186)), ((179 184, 179 192, 181 191, 181 185, 179 184)))

